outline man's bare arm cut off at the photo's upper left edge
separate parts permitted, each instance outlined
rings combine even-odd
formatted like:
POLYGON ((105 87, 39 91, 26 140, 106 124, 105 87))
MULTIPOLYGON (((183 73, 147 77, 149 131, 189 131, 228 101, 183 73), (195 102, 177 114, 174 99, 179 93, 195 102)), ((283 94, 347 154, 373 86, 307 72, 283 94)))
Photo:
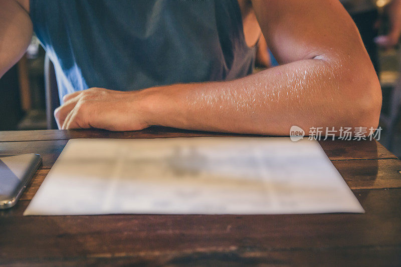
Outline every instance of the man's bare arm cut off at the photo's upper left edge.
POLYGON ((0 0, 0 77, 24 55, 32 33, 29 1, 0 0))

